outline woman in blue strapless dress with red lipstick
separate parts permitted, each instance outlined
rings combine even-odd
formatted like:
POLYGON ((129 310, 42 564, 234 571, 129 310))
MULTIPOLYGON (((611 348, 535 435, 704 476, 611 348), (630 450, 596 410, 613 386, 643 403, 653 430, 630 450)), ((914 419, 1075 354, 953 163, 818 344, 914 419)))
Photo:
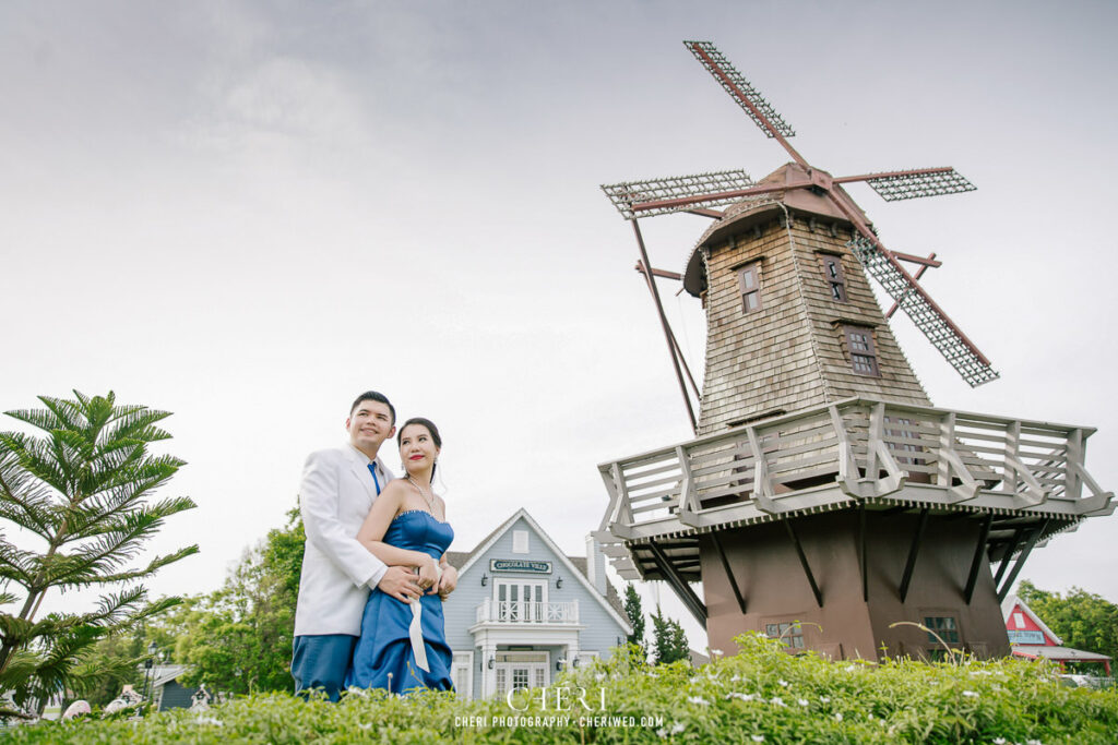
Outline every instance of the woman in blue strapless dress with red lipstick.
POLYGON ((417 417, 404 422, 396 441, 407 475, 385 487, 357 537, 386 564, 416 567, 426 592, 413 603, 379 590, 369 593, 345 685, 397 694, 453 690, 438 593, 454 531, 443 498, 430 486, 443 438, 430 420, 417 417))

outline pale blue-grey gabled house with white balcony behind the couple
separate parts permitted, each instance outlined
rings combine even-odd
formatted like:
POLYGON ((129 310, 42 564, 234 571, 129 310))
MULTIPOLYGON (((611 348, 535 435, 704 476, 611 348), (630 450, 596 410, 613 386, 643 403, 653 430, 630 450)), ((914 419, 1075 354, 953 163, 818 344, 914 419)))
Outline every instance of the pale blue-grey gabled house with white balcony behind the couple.
POLYGON ((451 675, 465 698, 550 685, 632 633, 597 542, 587 537, 586 557, 567 556, 524 509, 447 561, 458 570, 444 605, 451 675))

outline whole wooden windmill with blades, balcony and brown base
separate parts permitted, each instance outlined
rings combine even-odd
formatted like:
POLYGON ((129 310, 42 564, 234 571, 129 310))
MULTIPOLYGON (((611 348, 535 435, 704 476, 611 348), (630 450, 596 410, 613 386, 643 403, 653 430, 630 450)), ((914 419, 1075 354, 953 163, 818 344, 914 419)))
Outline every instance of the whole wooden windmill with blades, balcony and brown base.
POLYGON ((835 657, 925 655, 935 644, 897 625, 908 621, 1007 652, 999 601, 1029 553, 1114 510, 1083 469, 1093 430, 932 408, 887 324, 898 307, 970 385, 997 373, 918 284, 935 255, 887 249, 842 184, 887 200, 974 187, 949 168, 813 168, 713 45, 684 44, 793 160, 758 182, 723 171, 603 187, 633 225, 697 434, 599 466, 606 553, 625 577, 667 581, 716 648, 756 630, 835 657), (679 211, 714 221, 672 275, 651 267, 637 219, 679 211), (866 275, 893 298, 888 314, 866 275), (703 302, 701 395, 655 276, 703 302))

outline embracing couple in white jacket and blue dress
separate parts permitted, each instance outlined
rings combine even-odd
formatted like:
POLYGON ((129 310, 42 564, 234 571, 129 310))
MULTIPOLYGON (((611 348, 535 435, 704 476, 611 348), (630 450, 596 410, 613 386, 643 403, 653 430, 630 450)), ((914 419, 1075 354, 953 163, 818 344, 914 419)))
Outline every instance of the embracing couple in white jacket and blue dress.
POLYGON ((432 489, 443 441, 426 419, 397 434, 402 478, 379 457, 396 410, 376 391, 345 420, 349 443, 311 453, 299 493, 306 545, 295 609, 295 693, 349 686, 452 690, 443 599, 458 581, 446 563, 454 531, 432 489))

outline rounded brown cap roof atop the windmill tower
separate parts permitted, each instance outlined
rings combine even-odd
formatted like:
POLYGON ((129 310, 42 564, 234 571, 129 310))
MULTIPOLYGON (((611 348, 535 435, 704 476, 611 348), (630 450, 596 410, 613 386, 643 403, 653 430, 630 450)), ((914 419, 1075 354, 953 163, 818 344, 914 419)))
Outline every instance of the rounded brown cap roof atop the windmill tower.
MULTIPOLYGON (((825 176, 826 181, 831 180, 831 174, 825 171, 818 171, 818 169, 815 171, 825 176)), ((683 271, 683 288, 694 297, 699 297, 707 289, 707 276, 703 270, 701 250, 703 247, 726 240, 755 225, 768 222, 773 217, 773 212, 784 212, 784 209, 780 207, 781 204, 789 210, 817 214, 827 220, 850 225, 846 217, 824 193, 821 193, 817 188, 804 184, 805 181, 811 180, 812 174, 808 169, 798 163, 786 163, 758 181, 757 185, 800 185, 790 187, 787 191, 774 191, 746 197, 740 202, 728 207, 723 216, 707 228, 699 238, 699 242, 692 249, 691 256, 688 258, 686 268, 683 271)), ((840 187, 832 188, 840 189, 840 187)), ((855 209, 859 208, 855 206, 855 209)), ((862 219, 869 222, 869 219, 860 209, 859 213, 862 219)))

